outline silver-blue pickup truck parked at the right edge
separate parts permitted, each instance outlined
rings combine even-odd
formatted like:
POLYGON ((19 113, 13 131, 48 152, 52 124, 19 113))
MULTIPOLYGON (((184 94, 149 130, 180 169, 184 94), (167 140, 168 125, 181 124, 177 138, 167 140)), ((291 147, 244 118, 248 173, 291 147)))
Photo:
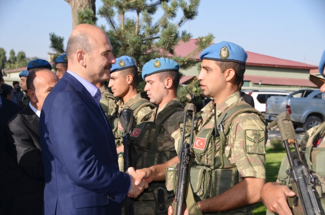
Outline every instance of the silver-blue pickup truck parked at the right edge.
POLYGON ((266 119, 274 120, 283 111, 289 112, 294 128, 302 127, 307 131, 325 120, 324 93, 301 89, 286 97, 273 96, 267 99, 266 119))

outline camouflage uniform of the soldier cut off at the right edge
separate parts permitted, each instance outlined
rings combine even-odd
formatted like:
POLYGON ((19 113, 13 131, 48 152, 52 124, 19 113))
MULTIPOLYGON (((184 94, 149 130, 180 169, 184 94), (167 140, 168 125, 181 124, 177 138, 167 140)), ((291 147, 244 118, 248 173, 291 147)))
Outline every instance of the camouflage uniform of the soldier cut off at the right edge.
MULTIPOLYGON (((299 145, 301 149, 301 157, 303 165, 307 165, 310 170, 316 173, 318 178, 315 185, 315 191, 317 194, 318 205, 322 208, 322 214, 324 214, 325 209, 325 147, 313 148, 313 142, 319 140, 321 137, 325 136, 325 122, 319 126, 315 126, 309 129, 305 136, 301 139, 299 145)), ((292 153, 293 159, 297 159, 296 154, 292 153)), ((289 180, 289 175, 285 173, 287 169, 290 169, 288 159, 284 156, 280 169, 278 171, 277 182, 281 185, 286 185, 291 188, 291 182, 289 180)), ((292 199, 292 198, 291 198, 292 199)), ((288 201, 289 206, 290 201, 288 201)), ((271 214, 267 211, 267 214, 271 214)))

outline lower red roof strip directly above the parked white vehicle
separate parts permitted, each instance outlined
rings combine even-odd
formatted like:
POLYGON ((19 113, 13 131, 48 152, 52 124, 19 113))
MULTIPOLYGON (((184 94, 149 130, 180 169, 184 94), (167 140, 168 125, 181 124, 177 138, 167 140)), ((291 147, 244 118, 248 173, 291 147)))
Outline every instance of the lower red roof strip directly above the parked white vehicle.
POLYGON ((261 76, 261 75, 244 75, 244 81, 251 81, 254 84, 258 84, 259 80, 262 81, 262 84, 269 84, 269 85, 317 87, 317 85, 315 85, 314 83, 312 83, 307 79, 269 77, 269 76, 261 76))

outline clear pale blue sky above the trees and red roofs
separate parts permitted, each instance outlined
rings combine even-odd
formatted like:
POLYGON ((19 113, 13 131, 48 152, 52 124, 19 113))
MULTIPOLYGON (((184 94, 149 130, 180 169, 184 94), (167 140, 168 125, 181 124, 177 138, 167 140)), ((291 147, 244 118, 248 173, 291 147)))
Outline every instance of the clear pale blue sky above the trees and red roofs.
MULTIPOLYGON (((96 9, 101 4, 96 0, 96 9)), ((102 18, 97 23, 106 24, 102 18)), ((325 49, 325 1, 201 0, 198 16, 182 26, 188 28, 193 38, 211 32, 214 42, 318 65, 325 49)), ((0 0, 0 47, 7 56, 13 48, 47 59, 52 52, 48 33, 63 36, 66 44, 71 29, 71 7, 64 0, 0 0)))

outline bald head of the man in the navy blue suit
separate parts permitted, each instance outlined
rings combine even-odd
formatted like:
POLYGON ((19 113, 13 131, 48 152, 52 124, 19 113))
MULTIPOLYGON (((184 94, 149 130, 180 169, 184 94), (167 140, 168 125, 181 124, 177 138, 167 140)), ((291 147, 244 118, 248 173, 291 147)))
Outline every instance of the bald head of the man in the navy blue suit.
POLYGON ((110 79, 115 58, 105 31, 90 24, 79 24, 71 32, 66 46, 67 69, 92 84, 110 79))

